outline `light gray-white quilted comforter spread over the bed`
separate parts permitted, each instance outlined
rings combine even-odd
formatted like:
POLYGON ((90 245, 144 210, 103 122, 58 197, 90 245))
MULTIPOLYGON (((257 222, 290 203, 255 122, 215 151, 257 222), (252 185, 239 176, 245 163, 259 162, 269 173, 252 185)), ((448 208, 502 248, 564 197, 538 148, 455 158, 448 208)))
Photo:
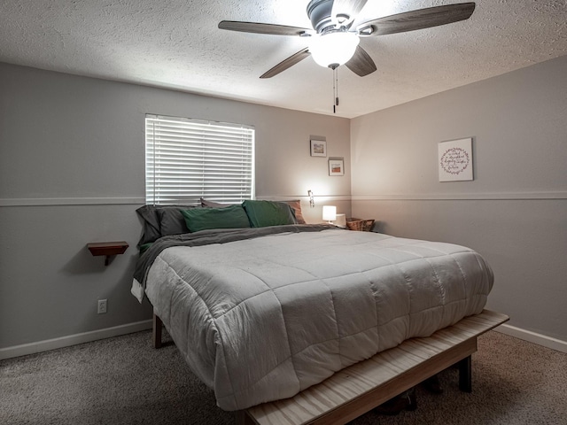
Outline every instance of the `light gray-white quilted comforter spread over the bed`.
POLYGON ((167 248, 147 276, 155 313, 225 410, 480 313, 493 286, 468 248, 342 229, 167 248))

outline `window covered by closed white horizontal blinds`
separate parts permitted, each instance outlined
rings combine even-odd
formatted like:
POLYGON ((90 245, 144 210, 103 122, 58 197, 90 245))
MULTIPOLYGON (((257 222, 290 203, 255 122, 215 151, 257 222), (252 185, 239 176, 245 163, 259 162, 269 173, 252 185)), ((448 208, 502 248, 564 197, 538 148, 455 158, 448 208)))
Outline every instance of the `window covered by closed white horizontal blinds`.
POLYGON ((199 197, 254 197, 254 128, 146 115, 146 204, 197 204, 199 197))

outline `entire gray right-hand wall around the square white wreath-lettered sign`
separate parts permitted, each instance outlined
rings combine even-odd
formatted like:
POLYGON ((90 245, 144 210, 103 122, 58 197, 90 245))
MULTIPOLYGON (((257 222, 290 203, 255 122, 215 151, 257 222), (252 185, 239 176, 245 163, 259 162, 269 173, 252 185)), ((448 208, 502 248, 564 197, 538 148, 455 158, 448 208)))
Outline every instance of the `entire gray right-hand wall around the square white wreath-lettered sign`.
POLYGON ((351 123, 353 215, 485 256, 488 307, 567 341, 567 57, 351 123), (439 182, 438 143, 473 137, 475 179, 439 182))

